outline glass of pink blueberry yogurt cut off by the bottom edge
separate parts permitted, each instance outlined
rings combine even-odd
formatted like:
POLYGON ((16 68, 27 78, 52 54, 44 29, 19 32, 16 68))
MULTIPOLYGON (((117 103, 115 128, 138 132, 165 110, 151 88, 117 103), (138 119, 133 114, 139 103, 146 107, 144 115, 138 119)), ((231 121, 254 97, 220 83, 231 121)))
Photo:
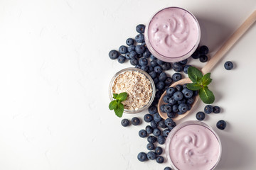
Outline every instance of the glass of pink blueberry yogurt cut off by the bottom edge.
POLYGON ((179 170, 214 169, 220 159, 220 141, 203 125, 186 125, 166 142, 166 156, 179 170))

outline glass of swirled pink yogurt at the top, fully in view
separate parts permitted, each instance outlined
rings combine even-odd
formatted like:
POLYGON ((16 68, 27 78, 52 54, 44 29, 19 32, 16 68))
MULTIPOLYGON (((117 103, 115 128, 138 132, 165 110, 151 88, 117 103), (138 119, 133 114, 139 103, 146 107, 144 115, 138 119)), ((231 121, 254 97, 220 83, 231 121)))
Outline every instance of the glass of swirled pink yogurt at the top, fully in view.
POLYGON ((198 21, 183 8, 169 7, 156 13, 146 27, 146 45, 155 57, 176 62, 189 57, 200 41, 198 21))

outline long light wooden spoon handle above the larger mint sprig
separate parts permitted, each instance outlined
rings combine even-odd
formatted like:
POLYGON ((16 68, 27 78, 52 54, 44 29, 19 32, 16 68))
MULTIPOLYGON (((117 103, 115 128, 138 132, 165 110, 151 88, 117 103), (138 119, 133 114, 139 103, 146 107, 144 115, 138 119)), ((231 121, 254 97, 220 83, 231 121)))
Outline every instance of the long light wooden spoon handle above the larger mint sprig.
POLYGON ((224 43, 222 47, 216 52, 216 54, 209 60, 209 62, 203 67, 201 70, 203 74, 210 72, 211 69, 217 64, 220 59, 230 50, 230 48, 239 40, 239 38, 252 26, 252 23, 256 21, 256 11, 254 11, 242 25, 238 28, 238 30, 231 35, 231 37, 224 43))

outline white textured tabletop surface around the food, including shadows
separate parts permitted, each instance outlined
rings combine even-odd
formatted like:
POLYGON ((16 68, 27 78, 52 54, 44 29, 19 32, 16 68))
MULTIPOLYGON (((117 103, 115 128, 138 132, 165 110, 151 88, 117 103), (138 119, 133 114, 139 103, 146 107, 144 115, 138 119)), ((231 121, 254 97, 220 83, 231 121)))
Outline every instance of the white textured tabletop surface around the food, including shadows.
MULTIPOLYGON (((137 24, 167 6, 181 6, 198 18, 210 57, 256 9, 256 1, 1 0, 0 169, 168 166, 139 162, 137 154, 146 152, 147 142, 138 131, 147 124, 123 128, 108 110, 110 79, 130 67, 110 60, 108 52, 134 38, 137 24)), ((256 168, 255 42, 254 24, 212 72, 213 105, 222 112, 204 122, 223 143, 218 170, 256 168), (232 71, 223 67, 227 60, 235 64, 232 71), (215 128, 220 119, 228 123, 223 131, 215 128)), ((195 114, 177 123, 196 120, 195 114)))

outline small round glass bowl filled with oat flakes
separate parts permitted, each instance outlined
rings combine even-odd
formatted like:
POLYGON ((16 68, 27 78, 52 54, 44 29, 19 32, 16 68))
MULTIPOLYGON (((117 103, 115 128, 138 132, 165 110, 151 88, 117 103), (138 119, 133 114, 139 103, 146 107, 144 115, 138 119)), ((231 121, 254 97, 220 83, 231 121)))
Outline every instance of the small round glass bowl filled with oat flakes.
POLYGON ((124 104, 124 113, 139 113, 148 108, 154 101, 156 87, 153 79, 142 69, 122 69, 110 81, 110 100, 114 100, 113 94, 127 92, 127 100, 124 104))

